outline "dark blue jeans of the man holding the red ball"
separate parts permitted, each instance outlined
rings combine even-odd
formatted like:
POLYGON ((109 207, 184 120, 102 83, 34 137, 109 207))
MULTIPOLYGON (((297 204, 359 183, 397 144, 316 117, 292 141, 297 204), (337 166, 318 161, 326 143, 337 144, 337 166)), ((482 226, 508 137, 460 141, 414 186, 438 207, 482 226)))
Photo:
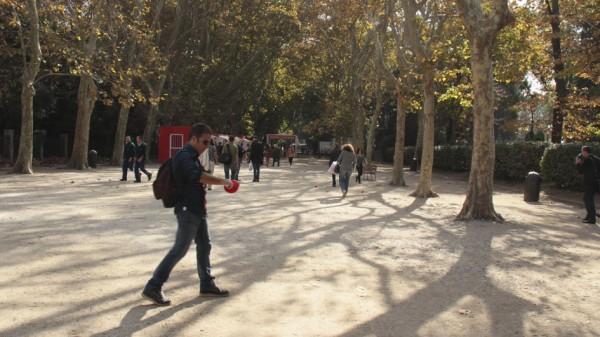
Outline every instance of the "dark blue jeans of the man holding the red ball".
POLYGON ((196 264, 198 266, 200 287, 210 287, 213 284, 213 277, 210 274, 210 250, 212 246, 206 217, 195 215, 190 211, 181 211, 177 213, 175 244, 156 267, 152 278, 148 281, 149 287, 160 289, 167 282, 177 262, 185 256, 190 248, 192 240, 196 241, 196 264))

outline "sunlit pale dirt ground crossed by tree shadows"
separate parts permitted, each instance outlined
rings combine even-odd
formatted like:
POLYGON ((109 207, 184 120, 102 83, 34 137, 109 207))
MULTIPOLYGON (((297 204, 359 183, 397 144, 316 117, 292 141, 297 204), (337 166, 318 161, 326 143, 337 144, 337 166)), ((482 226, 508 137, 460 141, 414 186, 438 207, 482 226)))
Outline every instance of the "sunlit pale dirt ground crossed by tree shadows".
POLYGON ((392 188, 383 167, 342 200, 326 166, 260 184, 246 168, 237 194, 212 191, 214 274, 232 296, 198 297, 192 247, 170 307, 140 296, 176 228, 149 183, 109 167, 0 174, 0 336, 600 336, 600 229, 581 208, 499 186, 506 223, 455 222, 464 180, 435 175, 440 197, 415 199, 417 177, 392 188))

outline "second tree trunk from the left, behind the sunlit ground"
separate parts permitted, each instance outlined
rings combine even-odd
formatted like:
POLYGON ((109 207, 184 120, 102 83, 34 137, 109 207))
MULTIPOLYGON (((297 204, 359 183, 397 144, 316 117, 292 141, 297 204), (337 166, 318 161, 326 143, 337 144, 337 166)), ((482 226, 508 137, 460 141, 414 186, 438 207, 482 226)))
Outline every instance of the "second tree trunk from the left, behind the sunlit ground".
POLYGON ((73 152, 69 167, 84 170, 88 168, 87 154, 90 140, 90 122, 92 111, 98 96, 98 89, 94 79, 89 74, 83 74, 79 79, 77 91, 77 122, 73 140, 73 152))

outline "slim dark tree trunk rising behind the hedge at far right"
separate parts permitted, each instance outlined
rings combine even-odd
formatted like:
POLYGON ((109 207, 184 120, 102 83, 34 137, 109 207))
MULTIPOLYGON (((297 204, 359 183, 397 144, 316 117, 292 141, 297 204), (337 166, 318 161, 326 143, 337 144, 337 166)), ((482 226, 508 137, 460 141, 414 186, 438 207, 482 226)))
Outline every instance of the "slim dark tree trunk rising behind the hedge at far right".
POLYGON ((547 2, 550 26, 552 27, 552 58, 554 59, 554 83, 556 102, 552 108, 552 143, 562 141, 565 105, 568 96, 567 81, 563 74, 565 64, 562 59, 560 40, 560 7, 558 0, 552 0, 552 5, 547 2))

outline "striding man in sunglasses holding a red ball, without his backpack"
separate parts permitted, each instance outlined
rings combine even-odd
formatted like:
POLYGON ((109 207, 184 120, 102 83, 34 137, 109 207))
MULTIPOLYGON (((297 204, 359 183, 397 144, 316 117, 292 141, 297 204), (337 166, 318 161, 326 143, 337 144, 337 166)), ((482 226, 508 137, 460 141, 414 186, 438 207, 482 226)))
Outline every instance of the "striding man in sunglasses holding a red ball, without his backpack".
POLYGON ((206 221, 205 185, 224 185, 230 188, 231 180, 220 179, 206 174, 198 161, 198 156, 210 144, 211 129, 205 124, 194 124, 190 140, 173 157, 171 163, 177 190, 175 216, 177 234, 175 244, 160 262, 152 278, 146 284, 142 296, 158 305, 169 305, 171 301, 162 292, 175 265, 185 256, 192 241, 196 242, 196 262, 200 278, 200 296, 228 296, 227 290, 220 289, 210 272, 211 242, 206 221))

